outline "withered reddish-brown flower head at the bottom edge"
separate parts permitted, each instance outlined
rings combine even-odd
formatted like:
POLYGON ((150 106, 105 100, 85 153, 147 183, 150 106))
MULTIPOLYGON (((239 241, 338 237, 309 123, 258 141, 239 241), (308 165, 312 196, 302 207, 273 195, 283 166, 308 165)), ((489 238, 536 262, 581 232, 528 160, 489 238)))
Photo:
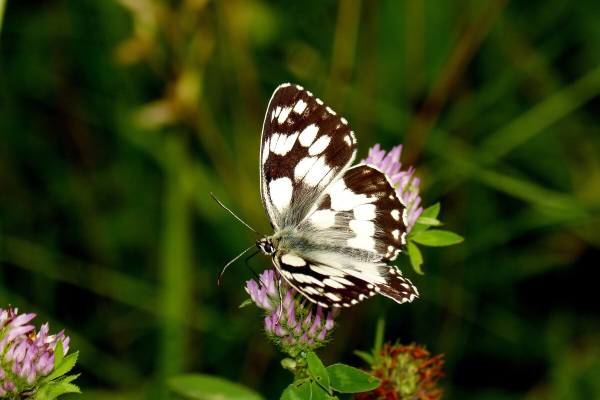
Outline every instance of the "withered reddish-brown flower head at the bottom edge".
POLYGON ((383 346, 371 375, 382 382, 370 392, 356 393, 356 400, 439 400, 442 389, 437 380, 443 377, 443 354, 430 357, 418 344, 383 346))

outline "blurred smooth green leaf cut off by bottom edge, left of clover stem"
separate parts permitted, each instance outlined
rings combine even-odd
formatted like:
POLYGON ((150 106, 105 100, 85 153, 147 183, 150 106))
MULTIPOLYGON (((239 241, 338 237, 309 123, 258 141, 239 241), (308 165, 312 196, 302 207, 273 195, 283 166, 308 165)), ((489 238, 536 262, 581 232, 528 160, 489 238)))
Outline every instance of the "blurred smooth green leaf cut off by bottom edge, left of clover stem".
POLYGON ((212 375, 178 375, 169 378, 167 386, 173 392, 190 400, 263 400, 263 397, 254 390, 212 375))

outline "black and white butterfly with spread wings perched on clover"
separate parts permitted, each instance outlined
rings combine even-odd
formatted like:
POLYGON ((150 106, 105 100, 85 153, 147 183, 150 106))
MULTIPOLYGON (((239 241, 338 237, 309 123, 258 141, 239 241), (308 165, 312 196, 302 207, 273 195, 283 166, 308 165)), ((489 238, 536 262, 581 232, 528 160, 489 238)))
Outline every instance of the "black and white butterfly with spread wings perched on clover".
POLYGON ((348 307, 377 293, 412 302, 416 287, 387 264, 406 244, 406 207, 376 166, 350 167, 355 157, 346 119, 301 86, 278 86, 259 164, 274 233, 256 246, 313 303, 348 307))

